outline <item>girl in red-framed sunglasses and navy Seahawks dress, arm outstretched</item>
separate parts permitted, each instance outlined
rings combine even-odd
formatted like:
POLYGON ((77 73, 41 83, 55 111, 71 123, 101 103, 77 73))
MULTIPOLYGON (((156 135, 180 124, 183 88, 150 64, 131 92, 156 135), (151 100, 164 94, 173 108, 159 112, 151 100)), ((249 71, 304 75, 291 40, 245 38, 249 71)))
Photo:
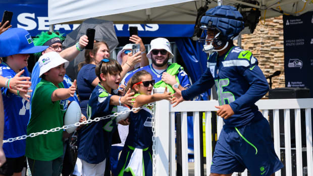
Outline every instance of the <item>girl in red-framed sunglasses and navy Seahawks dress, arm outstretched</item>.
POLYGON ((164 93, 152 94, 154 85, 152 76, 145 70, 136 72, 127 84, 136 98, 133 107, 142 109, 130 112, 129 133, 118 163, 119 175, 152 175, 152 114, 148 103, 169 100, 171 93, 165 88, 164 93))

